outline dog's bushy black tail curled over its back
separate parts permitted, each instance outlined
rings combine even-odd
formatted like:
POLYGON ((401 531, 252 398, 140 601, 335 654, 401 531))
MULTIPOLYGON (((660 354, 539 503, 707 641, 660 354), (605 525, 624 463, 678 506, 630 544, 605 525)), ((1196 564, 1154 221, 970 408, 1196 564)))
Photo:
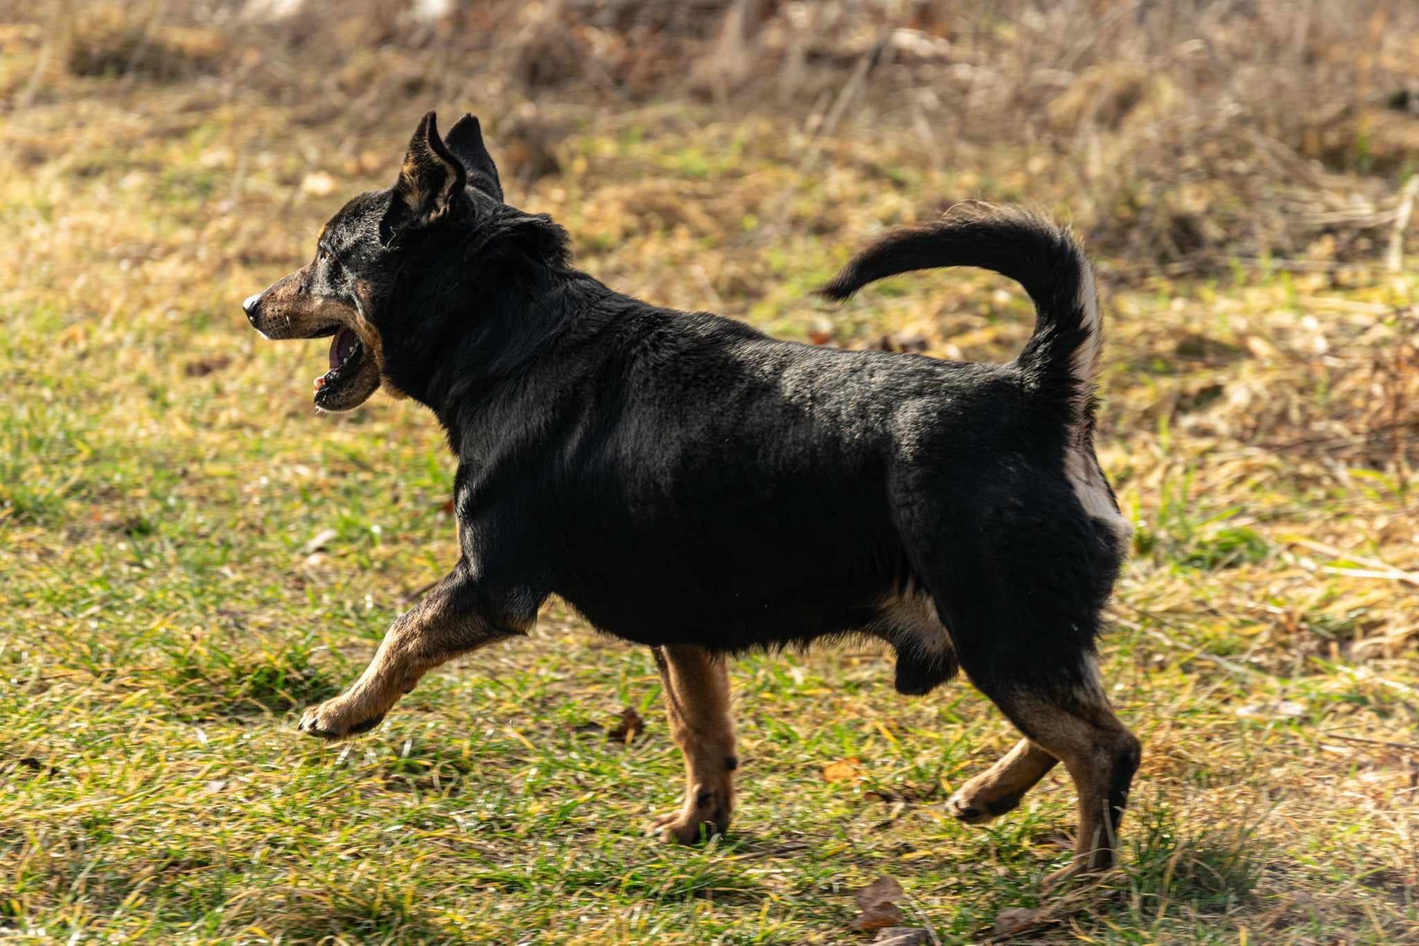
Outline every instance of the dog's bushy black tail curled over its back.
POLYGON ((876 279, 937 267, 993 269, 1025 286, 1036 311, 1034 333, 1016 359, 1026 384, 1070 404, 1076 421, 1093 416, 1104 349, 1094 272, 1069 231, 1044 217, 978 200, 956 204, 937 223, 885 234, 819 292, 846 299, 876 279))

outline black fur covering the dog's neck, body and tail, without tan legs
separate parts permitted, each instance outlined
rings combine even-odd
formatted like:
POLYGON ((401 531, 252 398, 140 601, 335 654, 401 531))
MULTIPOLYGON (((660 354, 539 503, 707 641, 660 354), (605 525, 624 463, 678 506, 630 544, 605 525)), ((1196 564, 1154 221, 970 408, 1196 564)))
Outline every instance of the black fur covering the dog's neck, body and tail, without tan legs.
POLYGON ((561 227, 502 203, 465 121, 447 149, 461 193, 423 216, 399 187, 365 194, 325 244, 345 272, 331 291, 366 286, 352 304, 385 383, 429 406, 458 457, 470 607, 521 625, 559 594, 617 637, 718 652, 870 630, 914 694, 958 664, 998 702, 1084 682, 1122 550, 1064 475, 1093 433, 1093 379, 1070 365, 1093 288, 1064 231, 969 206, 884 237, 824 289, 1003 272, 1039 309, 1009 365, 782 342, 573 268, 561 227), (942 652, 884 617, 904 589, 934 603, 942 652))

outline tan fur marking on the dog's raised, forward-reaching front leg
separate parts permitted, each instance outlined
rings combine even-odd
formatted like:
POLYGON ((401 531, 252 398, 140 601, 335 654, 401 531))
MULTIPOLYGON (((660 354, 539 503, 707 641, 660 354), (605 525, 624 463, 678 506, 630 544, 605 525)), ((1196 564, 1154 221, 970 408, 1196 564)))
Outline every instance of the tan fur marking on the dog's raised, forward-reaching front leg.
POLYGON ((299 729, 326 739, 368 732, 433 668, 528 630, 531 621, 512 627, 454 607, 453 593, 465 580, 455 570, 394 621, 359 679, 339 696, 307 709, 299 729))

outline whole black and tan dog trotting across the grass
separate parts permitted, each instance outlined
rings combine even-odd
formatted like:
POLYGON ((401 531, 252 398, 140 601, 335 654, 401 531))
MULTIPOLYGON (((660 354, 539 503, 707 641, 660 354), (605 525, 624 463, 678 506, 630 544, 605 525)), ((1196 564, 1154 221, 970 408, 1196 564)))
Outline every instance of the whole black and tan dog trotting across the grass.
POLYGON ((883 235, 822 294, 956 265, 1029 292, 1015 362, 844 352, 663 309, 504 203, 475 118, 441 138, 427 113, 393 187, 345 204, 311 262, 243 302, 268 339, 332 339, 316 407, 412 397, 458 458, 458 562, 299 729, 372 729, 558 594, 653 648, 685 760, 684 804, 654 827, 691 842, 734 810, 725 658, 870 635, 895 651, 900 692, 965 669, 1023 735, 948 800, 956 818, 1005 814, 1063 762, 1080 827, 1049 881, 1108 867, 1141 745, 1095 660, 1130 526, 1094 454, 1090 262, 1044 218, 966 203, 883 235))

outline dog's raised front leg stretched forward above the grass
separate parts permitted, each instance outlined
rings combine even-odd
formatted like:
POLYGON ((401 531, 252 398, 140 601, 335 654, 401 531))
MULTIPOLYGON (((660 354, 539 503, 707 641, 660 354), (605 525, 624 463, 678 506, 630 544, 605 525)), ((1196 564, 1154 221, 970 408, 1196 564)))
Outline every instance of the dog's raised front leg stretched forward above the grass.
POLYGON ((494 593, 461 560, 424 599, 404 613, 355 684, 301 716, 301 732, 339 739, 379 725, 419 678, 447 660, 494 641, 525 634, 536 616, 526 593, 494 593))

